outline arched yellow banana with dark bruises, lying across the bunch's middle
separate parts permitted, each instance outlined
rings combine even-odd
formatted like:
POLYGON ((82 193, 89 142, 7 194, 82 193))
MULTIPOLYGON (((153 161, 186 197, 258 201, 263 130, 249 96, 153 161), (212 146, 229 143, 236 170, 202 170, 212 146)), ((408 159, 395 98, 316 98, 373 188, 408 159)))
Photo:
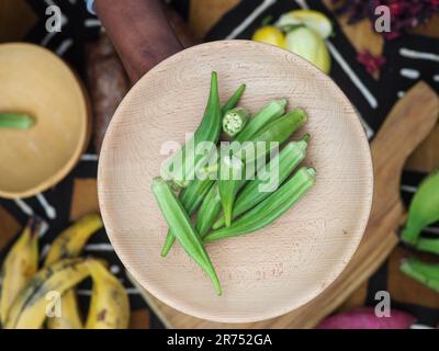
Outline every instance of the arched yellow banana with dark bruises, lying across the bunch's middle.
POLYGON ((89 275, 87 259, 65 259, 40 270, 20 291, 7 315, 5 329, 38 329, 49 309, 50 293, 61 296, 89 275))

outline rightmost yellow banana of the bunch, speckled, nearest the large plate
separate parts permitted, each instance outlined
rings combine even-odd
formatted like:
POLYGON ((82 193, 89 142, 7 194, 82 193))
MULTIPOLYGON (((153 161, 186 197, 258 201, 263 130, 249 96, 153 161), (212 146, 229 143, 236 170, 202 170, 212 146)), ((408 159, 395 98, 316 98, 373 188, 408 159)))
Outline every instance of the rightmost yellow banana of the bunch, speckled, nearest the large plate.
POLYGON ((124 286, 101 262, 87 262, 93 280, 87 329, 126 329, 130 302, 124 286))

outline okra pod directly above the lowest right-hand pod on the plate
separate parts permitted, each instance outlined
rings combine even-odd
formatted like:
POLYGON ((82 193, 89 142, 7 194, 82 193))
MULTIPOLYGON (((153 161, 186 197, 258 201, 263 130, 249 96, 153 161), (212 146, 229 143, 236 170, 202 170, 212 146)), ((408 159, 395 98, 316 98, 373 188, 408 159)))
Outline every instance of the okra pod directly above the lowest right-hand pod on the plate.
MULTIPOLYGON (((232 219, 252 208, 261 201, 267 199, 273 191, 261 191, 263 184, 268 184, 270 179, 278 180, 278 186, 293 172, 293 170, 305 159, 307 141, 309 135, 303 136, 300 141, 289 143, 270 162, 268 171, 262 177, 255 178, 239 192, 233 207, 232 219)), ((278 189, 278 188, 277 188, 278 189)), ((213 225, 213 229, 218 229, 225 224, 224 215, 213 225)))

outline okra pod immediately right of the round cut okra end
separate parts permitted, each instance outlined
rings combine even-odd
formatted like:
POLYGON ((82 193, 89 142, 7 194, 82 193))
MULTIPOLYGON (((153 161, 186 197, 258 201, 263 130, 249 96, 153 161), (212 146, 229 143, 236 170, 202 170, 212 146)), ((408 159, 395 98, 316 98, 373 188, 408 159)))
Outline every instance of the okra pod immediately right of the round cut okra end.
POLYGON ((283 115, 285 113, 285 106, 286 99, 269 102, 247 123, 243 132, 240 132, 235 139, 239 143, 249 140, 267 124, 283 115))

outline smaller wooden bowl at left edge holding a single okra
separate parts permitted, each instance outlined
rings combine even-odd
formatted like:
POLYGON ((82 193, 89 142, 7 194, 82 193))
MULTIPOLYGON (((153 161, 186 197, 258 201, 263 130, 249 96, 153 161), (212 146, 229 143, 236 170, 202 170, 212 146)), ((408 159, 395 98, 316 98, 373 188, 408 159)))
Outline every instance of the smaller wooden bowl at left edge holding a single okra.
POLYGON ((0 111, 36 120, 27 131, 0 128, 0 196, 32 196, 61 180, 86 147, 86 94, 59 57, 31 44, 0 45, 0 111))

